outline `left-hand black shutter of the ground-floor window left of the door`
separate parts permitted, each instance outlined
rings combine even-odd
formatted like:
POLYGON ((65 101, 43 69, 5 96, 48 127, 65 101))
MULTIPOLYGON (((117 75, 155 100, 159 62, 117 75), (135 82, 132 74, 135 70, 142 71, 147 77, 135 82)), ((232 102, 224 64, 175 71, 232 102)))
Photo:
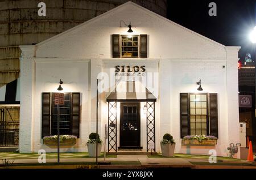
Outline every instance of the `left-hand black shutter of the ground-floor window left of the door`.
POLYGON ((42 138, 50 135, 51 93, 42 95, 42 138))

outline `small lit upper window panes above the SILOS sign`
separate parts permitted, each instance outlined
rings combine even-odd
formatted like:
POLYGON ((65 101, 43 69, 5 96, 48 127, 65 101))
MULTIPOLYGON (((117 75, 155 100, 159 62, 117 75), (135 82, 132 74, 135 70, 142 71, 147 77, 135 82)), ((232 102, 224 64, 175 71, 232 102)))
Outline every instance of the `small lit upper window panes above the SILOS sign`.
POLYGON ((122 37, 122 58, 139 57, 139 36, 121 36, 122 37))

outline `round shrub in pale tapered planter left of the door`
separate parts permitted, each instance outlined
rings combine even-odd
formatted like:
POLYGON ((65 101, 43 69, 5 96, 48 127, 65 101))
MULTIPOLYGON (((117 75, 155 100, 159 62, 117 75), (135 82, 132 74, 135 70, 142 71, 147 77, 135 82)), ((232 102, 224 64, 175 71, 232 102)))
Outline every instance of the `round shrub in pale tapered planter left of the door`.
POLYGON ((98 143, 98 156, 101 155, 101 147, 102 147, 102 141, 100 139, 100 136, 95 133, 92 132, 89 135, 89 140, 86 143, 87 144, 87 148, 88 148, 88 153, 90 157, 96 157, 96 144, 98 143))

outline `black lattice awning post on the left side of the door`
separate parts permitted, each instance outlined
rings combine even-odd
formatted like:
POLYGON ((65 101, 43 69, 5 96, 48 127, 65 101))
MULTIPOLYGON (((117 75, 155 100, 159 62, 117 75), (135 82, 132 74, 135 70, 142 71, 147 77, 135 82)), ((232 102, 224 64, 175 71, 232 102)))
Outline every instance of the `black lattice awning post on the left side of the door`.
POLYGON ((117 152, 117 102, 109 102, 109 152, 117 152))

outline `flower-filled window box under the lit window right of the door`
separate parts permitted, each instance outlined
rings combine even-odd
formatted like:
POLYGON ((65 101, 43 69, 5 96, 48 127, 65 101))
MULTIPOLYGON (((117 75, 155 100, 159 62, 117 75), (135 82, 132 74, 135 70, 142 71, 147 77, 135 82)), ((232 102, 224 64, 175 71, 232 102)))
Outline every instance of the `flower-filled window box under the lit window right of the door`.
POLYGON ((183 138, 183 144, 185 145, 216 145, 217 139, 215 136, 205 135, 191 135, 183 138))

